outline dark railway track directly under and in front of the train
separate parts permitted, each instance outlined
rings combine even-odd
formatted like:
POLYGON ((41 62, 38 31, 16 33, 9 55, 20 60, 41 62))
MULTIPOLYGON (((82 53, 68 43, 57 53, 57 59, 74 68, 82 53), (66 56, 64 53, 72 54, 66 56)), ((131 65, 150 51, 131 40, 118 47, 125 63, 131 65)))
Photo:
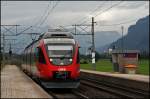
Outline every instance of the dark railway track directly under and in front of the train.
POLYGON ((91 86, 89 88, 85 86, 85 84, 81 84, 78 89, 46 89, 44 90, 50 94, 54 99, 66 99, 66 98, 82 98, 82 99, 89 99, 89 98, 118 98, 116 95, 108 94, 107 92, 103 92, 102 90, 93 90, 91 86), (96 92, 98 91, 98 92, 96 92), (94 94, 96 93, 96 94, 94 94))

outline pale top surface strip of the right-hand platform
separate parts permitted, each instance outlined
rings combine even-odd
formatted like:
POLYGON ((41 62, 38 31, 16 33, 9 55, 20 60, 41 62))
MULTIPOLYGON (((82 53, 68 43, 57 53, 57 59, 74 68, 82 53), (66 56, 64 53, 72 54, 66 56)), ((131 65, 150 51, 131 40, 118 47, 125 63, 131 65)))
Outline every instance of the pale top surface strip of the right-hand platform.
POLYGON ((149 76, 146 75, 100 72, 100 71, 85 70, 85 69, 81 69, 81 72, 88 72, 88 73, 94 73, 94 74, 100 74, 100 75, 106 75, 106 76, 112 76, 112 77, 118 77, 118 78, 124 78, 124 79, 130 79, 130 80, 136 80, 142 82, 149 82, 149 76))

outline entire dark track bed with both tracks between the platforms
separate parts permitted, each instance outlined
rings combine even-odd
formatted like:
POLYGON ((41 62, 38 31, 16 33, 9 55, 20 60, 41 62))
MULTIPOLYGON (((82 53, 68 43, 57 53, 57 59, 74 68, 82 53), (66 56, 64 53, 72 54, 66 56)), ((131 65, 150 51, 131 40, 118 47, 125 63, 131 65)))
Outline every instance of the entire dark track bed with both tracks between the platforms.
MULTIPOLYGON (((36 81, 36 83, 38 83, 36 81)), ((38 83, 39 84, 39 83, 38 83)), ((39 84, 40 85, 40 84, 39 84)), ((78 89, 48 89, 40 85, 53 98, 149 98, 149 92, 131 89, 113 83, 82 78, 78 89)))

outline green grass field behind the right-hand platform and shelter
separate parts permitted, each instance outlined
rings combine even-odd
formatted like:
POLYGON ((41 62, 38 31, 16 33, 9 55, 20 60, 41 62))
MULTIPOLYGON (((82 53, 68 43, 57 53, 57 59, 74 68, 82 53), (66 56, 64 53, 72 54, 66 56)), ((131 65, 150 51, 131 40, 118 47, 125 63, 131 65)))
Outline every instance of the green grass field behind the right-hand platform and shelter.
MULTIPOLYGON (((149 75, 149 60, 142 59, 138 62, 138 74, 149 75)), ((80 64, 81 69, 92 70, 92 64, 80 64)), ((96 63, 96 70, 102 72, 113 72, 113 64, 108 59, 101 59, 96 63)))

